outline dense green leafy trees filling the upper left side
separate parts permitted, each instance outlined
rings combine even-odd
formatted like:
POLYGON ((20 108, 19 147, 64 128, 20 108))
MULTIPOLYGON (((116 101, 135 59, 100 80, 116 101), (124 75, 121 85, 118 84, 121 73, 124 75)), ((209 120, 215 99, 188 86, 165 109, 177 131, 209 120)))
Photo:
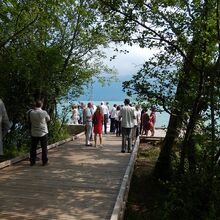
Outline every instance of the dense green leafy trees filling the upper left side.
MULTIPOLYGON (((113 71, 102 63, 108 39, 92 2, 2 2, 0 94, 13 129, 23 127, 33 99, 44 98, 52 118, 56 104, 72 91, 83 93, 92 77, 113 71), (15 111, 16 109, 16 111, 15 111)), ((13 130, 12 129, 12 130, 13 130)))

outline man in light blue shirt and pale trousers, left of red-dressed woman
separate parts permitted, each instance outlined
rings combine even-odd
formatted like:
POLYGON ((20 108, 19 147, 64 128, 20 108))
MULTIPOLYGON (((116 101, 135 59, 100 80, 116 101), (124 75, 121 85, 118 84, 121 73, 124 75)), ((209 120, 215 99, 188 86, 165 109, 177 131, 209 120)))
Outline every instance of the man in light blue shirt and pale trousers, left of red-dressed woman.
POLYGON ((90 142, 92 135, 92 116, 93 116, 92 103, 88 102, 87 108, 84 110, 86 146, 92 146, 92 143, 90 142))

